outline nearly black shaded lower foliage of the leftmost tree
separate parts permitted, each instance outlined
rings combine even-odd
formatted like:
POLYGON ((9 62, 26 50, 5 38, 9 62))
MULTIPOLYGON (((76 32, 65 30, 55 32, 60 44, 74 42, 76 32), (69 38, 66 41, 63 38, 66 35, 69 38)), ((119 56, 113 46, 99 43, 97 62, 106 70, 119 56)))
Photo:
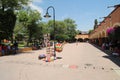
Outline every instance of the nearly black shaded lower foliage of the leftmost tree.
POLYGON ((16 15, 13 10, 0 11, 0 30, 3 31, 1 39, 12 39, 15 22, 16 15))

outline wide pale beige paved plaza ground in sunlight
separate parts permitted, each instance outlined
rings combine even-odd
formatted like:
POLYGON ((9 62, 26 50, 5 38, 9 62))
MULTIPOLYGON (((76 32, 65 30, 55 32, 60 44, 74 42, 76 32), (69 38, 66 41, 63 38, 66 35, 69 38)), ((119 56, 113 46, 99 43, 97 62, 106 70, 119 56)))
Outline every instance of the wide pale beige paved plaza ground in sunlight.
POLYGON ((67 43, 52 62, 39 60, 46 49, 0 57, 0 80, 119 80, 120 68, 89 43, 67 43))

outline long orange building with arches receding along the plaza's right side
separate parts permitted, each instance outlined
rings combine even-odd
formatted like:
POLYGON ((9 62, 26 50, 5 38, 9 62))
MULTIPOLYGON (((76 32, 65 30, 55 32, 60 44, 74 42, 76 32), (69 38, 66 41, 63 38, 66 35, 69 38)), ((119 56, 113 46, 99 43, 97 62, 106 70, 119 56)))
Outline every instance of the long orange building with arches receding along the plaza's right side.
POLYGON ((110 27, 120 26, 120 4, 114 6, 115 9, 98 25, 98 27, 89 35, 92 42, 98 41, 101 46, 107 39, 107 29, 110 27))

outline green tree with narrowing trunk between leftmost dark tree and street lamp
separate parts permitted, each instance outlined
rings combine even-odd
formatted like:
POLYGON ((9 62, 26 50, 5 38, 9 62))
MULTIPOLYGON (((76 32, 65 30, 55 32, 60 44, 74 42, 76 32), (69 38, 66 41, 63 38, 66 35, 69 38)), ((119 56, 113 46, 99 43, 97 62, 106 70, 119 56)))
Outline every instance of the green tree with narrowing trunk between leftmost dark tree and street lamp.
POLYGON ((35 35, 35 32, 38 29, 38 23, 41 19, 41 14, 36 10, 31 10, 30 8, 27 10, 21 10, 18 13, 18 21, 24 26, 24 28, 26 28, 28 33, 27 46, 35 35))

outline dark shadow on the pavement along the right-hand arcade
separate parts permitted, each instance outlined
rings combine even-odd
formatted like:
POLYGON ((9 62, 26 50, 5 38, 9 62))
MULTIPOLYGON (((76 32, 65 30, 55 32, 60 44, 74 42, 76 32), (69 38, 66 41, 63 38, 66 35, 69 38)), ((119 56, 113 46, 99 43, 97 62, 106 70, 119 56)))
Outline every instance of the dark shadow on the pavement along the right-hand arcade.
POLYGON ((91 44, 94 47, 96 47, 97 49, 101 50, 102 52, 104 52, 105 54, 107 54, 106 56, 103 56, 104 58, 107 58, 109 60, 111 60, 112 62, 114 62, 116 65, 118 65, 120 67, 120 57, 115 57, 112 55, 112 52, 109 50, 102 50, 101 47, 91 44))

